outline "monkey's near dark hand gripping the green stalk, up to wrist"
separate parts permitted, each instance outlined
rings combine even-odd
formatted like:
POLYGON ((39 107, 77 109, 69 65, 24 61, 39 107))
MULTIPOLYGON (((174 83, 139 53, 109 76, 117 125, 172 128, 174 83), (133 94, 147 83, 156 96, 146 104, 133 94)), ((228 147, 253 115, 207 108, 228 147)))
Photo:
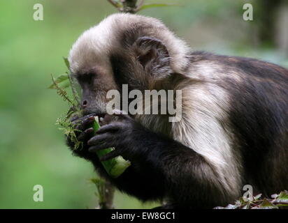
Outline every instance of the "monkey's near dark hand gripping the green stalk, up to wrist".
MULTIPOLYGON (((147 137, 147 130, 126 114, 115 114, 115 116, 117 121, 103 125, 96 135, 89 139, 89 151, 94 153, 104 148, 114 147, 114 151, 104 155, 100 160, 105 161, 122 155, 124 159, 131 162, 143 161, 146 148, 140 143, 145 141, 143 138, 147 137)), ((146 143, 149 144, 148 137, 146 143)))

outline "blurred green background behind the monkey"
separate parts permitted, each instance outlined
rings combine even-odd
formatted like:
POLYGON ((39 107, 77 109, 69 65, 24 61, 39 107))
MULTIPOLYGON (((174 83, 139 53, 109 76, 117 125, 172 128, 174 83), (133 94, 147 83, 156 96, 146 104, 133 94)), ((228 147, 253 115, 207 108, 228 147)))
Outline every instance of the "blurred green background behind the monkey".
MULTIPOLYGON (((180 6, 149 8, 193 49, 250 56, 288 67, 287 1, 147 0, 180 6), (252 3, 254 20, 243 20, 252 3), (273 3, 271 5, 271 3, 273 3)), ((73 157, 55 121, 67 109, 53 90, 51 74, 66 71, 67 56, 82 31, 116 9, 106 0, 0 1, 0 208, 94 208, 92 165, 73 157), (34 21, 42 3, 44 20, 34 21), (34 185, 44 201, 34 202, 34 185)), ((117 208, 151 208, 117 192, 117 208)))

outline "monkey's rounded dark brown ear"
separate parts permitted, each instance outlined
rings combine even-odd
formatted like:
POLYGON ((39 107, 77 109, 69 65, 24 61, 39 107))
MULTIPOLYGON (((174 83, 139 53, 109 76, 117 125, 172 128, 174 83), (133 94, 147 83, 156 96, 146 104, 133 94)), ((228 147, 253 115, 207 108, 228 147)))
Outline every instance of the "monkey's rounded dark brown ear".
POLYGON ((136 47, 137 59, 143 68, 152 66, 152 63, 156 63, 157 66, 169 65, 169 54, 161 40, 143 36, 136 40, 134 47, 136 47))

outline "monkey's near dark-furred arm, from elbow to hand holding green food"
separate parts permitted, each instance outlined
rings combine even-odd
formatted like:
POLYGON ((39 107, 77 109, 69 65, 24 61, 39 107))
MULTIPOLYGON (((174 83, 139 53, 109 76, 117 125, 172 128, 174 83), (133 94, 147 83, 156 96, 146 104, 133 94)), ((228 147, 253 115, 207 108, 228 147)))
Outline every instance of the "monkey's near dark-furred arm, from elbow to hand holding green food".
POLYGON ((123 117, 123 121, 104 125, 88 141, 91 152, 115 147, 102 160, 122 155, 131 161, 124 174, 110 179, 120 190, 144 201, 168 196, 178 207, 209 204, 212 208, 219 201, 224 203, 219 178, 201 155, 178 141, 150 132, 129 116, 123 117))

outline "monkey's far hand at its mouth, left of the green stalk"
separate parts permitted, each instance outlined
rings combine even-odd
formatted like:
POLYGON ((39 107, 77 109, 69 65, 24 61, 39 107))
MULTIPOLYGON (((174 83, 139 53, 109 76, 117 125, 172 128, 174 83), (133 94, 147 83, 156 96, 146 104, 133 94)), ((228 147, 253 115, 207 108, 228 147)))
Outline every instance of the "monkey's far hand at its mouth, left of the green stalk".
POLYGON ((74 155, 83 157, 87 160, 92 160, 95 155, 89 153, 89 146, 87 144, 87 141, 94 136, 94 129, 92 128, 92 125, 94 123, 94 115, 89 114, 80 118, 78 116, 75 116, 74 118, 71 118, 71 122, 75 126, 75 139, 73 139, 72 136, 69 135, 66 138, 66 144, 71 148, 74 155), (81 142, 81 145, 78 146, 79 148, 75 148, 76 141, 81 142))

